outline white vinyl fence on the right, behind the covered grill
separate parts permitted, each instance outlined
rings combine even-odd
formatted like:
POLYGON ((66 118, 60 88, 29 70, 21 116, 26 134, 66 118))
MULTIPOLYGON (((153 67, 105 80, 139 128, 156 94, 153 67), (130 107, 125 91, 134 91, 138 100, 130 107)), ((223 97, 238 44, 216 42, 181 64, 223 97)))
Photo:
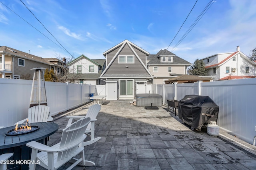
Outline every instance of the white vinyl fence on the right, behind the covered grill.
MULTIPOLYGON (((209 96, 220 108, 217 124, 232 135, 252 144, 256 135, 256 78, 154 85, 156 93, 181 100, 189 94, 209 96)), ((154 90, 153 90, 154 91, 154 90)))

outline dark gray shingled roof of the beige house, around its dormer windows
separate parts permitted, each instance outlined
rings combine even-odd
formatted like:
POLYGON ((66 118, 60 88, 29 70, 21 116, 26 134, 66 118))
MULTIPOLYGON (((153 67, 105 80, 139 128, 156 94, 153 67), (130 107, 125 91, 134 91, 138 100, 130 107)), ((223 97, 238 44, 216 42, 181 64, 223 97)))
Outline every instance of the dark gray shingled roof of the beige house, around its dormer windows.
POLYGON ((160 50, 156 55, 154 56, 150 56, 151 60, 148 61, 147 64, 150 65, 158 65, 158 64, 170 64, 170 65, 191 65, 191 63, 189 63, 188 61, 176 56, 174 53, 164 49, 164 50, 160 50), (172 56, 173 57, 173 62, 161 62, 161 57, 168 57, 168 56, 172 56))

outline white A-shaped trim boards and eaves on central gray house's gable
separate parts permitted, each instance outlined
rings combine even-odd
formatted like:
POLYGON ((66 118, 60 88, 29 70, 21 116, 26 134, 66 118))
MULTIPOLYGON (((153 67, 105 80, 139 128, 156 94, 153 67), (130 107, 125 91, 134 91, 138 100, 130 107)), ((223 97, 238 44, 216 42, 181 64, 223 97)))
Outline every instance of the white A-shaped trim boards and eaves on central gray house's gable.
MULTIPOLYGON (((139 49, 140 51, 146 53, 146 55, 149 55, 149 53, 147 51, 145 51, 144 49, 138 47, 137 45, 135 45, 134 43, 131 43, 130 41, 128 41, 127 39, 124 40, 122 43, 119 43, 118 45, 112 47, 111 49, 105 51, 103 53, 103 55, 106 57, 107 53, 110 53, 112 50, 120 47, 117 51, 117 53, 115 54, 115 56, 112 58, 112 60, 110 61, 110 63, 108 64, 108 66, 105 68, 105 70, 102 72, 102 74, 100 75, 100 77, 103 77, 105 72, 108 70, 108 68, 110 68, 110 66, 112 65, 112 63, 115 61, 115 59, 118 57, 119 53, 122 51, 122 49, 125 47, 125 45, 128 45, 128 47, 132 50, 132 52, 134 53, 134 56, 138 59, 138 61, 140 62, 140 64, 145 68, 146 72, 148 72, 149 77, 153 77, 152 74, 150 73, 150 71, 148 70, 148 68, 146 67, 146 65, 142 62, 142 60, 140 59, 140 57, 138 56, 138 54, 136 53, 136 51, 134 51, 134 48, 139 49), (133 46, 133 47, 132 47, 133 46)), ((146 76, 148 77, 148 76, 146 76)))

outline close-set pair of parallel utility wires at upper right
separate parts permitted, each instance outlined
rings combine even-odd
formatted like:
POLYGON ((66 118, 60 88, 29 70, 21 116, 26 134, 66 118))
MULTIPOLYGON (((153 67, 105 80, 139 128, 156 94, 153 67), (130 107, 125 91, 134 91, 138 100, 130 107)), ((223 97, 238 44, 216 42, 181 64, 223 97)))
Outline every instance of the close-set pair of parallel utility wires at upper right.
POLYGON ((213 2, 214 2, 214 0, 210 0, 208 2, 206 7, 204 8, 204 10, 200 13, 200 15, 196 18, 196 20, 192 23, 192 25, 190 25, 190 27, 188 28, 186 33, 184 33, 184 35, 181 37, 181 39, 178 41, 178 43, 176 43, 176 45, 172 48, 171 52, 173 52, 176 49, 176 47, 178 47, 178 45, 183 41, 183 39, 188 35, 188 33, 190 33, 190 31, 194 28, 194 26, 198 23, 198 21, 204 16, 204 14, 212 6, 213 2))

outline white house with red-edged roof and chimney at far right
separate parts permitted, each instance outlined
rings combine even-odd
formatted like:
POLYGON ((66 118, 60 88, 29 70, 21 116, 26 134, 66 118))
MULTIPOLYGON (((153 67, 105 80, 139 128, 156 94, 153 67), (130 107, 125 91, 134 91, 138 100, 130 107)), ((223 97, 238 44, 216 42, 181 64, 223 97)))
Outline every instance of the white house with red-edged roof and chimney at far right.
POLYGON ((236 52, 218 53, 202 59, 208 76, 216 77, 216 80, 228 75, 232 76, 256 76, 256 63, 250 61, 237 46, 236 52))

